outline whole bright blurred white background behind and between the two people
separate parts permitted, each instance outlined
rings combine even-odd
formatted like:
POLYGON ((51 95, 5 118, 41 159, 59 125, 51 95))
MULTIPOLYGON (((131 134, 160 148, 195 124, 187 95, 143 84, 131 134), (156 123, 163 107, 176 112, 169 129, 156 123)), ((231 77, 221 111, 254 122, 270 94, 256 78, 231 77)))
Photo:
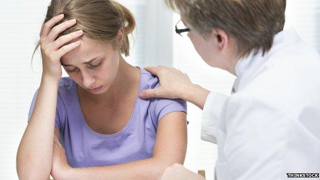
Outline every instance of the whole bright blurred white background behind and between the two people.
MULTIPOLYGON (((207 66, 188 37, 174 33, 178 14, 160 0, 118 0, 134 14, 137 28, 127 62, 146 67, 165 65, 188 73, 193 83, 230 94, 235 77, 207 66)), ((42 73, 40 52, 33 53, 49 0, 1 0, 0 6, 0 179, 18 179, 16 151, 27 126, 31 99, 42 73)), ((286 25, 320 52, 320 1, 287 0, 286 25)), ((306 52, 308 53, 308 52, 306 52)), ((67 76, 64 72, 63 76, 67 76)), ((216 145, 200 139, 202 111, 188 104, 188 150, 185 167, 206 170, 213 179, 216 145)))

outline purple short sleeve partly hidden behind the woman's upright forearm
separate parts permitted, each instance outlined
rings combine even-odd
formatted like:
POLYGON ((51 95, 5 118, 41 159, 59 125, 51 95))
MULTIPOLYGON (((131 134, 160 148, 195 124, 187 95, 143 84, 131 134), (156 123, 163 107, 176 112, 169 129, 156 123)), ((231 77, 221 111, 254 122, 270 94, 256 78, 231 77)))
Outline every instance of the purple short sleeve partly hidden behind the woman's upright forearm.
MULTIPOLYGON (((37 94, 38 94, 38 90, 37 89, 33 95, 33 98, 32 98, 32 102, 31 102, 31 105, 30 105, 30 109, 29 109, 29 113, 28 113, 28 122, 30 121, 30 118, 31 118, 31 115, 32 115, 32 112, 33 112, 33 109, 34 109, 34 105, 35 105, 35 102, 36 102, 36 98, 37 98, 37 94)), ((58 94, 58 97, 57 97, 57 108, 56 108, 56 112, 55 112, 55 127, 57 127, 59 130, 61 130, 61 127, 64 127, 62 126, 62 123, 64 122, 63 119, 64 119, 64 116, 63 116, 63 108, 62 108, 62 99, 61 97, 59 96, 58 94)))

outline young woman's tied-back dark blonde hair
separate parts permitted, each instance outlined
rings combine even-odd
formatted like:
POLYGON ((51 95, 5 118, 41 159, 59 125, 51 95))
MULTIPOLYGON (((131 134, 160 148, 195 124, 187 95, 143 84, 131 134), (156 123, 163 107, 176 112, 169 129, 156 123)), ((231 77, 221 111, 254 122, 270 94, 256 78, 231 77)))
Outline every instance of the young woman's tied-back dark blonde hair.
MULTIPOLYGON (((77 23, 60 33, 57 38, 82 29, 83 35, 94 41, 112 42, 116 39, 119 29, 123 28, 124 41, 121 53, 129 55, 128 35, 135 28, 135 20, 132 13, 123 5, 112 0, 52 0, 44 23, 59 14, 64 14, 64 19, 58 24, 73 18, 77 23)), ((39 45, 38 42, 34 52, 39 45)))

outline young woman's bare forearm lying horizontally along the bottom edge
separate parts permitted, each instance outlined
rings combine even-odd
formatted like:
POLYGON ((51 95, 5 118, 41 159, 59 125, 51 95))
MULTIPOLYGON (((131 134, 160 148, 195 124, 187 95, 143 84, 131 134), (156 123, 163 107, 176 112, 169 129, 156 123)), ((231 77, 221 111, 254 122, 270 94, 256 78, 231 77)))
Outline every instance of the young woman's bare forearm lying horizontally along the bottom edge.
POLYGON ((147 180, 157 179, 164 170, 174 162, 161 162, 154 158, 143 159, 131 163, 89 168, 74 168, 67 179, 122 179, 147 180))

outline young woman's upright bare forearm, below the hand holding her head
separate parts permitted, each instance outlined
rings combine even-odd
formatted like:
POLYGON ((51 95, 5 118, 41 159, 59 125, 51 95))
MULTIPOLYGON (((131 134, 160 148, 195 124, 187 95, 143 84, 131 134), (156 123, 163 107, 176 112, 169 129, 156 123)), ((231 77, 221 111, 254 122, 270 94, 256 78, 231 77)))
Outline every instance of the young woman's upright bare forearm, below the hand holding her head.
POLYGON ((52 165, 58 82, 42 78, 32 116, 17 151, 20 179, 46 179, 52 165))

